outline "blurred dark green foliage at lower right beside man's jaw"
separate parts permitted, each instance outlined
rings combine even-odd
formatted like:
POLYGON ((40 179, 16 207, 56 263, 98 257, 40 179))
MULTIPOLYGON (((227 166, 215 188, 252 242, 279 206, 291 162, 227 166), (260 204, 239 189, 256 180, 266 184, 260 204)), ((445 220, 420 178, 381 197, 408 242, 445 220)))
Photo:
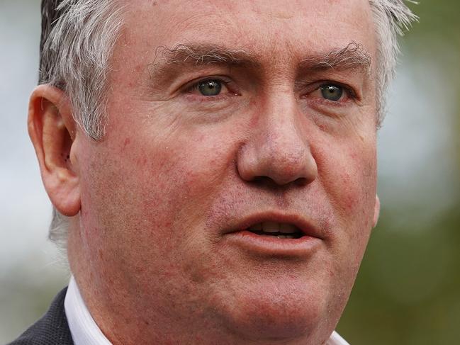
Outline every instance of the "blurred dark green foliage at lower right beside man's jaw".
POLYGON ((339 331, 357 345, 456 344, 458 211, 449 211, 425 229, 395 228, 396 220, 385 212, 382 218, 339 331))

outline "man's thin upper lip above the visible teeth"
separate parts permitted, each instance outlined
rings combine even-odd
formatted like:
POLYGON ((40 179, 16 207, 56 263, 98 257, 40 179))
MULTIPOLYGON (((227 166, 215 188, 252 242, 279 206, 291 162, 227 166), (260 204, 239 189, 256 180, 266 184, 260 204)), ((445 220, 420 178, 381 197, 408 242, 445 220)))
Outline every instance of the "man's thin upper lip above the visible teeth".
POLYGON ((235 221, 235 223, 229 227, 226 233, 247 230, 252 225, 256 225, 261 222, 279 222, 291 224, 298 227, 304 236, 317 237, 319 239, 324 238, 322 231, 318 227, 315 227, 313 222, 308 220, 307 217, 299 215, 298 213, 280 213, 274 211, 252 213, 250 215, 246 215, 245 217, 235 221))

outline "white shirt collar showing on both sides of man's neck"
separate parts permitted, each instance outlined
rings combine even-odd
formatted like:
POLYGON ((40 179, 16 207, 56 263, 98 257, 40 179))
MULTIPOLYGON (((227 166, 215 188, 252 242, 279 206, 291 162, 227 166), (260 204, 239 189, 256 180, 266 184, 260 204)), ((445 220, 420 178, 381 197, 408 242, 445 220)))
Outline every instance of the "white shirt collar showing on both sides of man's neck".
MULTIPOLYGON (((69 288, 64 300, 65 315, 69 323, 74 345, 111 345, 103 335, 84 304, 74 277, 70 278, 69 288)), ((333 332, 325 345, 349 345, 342 336, 333 332)))

